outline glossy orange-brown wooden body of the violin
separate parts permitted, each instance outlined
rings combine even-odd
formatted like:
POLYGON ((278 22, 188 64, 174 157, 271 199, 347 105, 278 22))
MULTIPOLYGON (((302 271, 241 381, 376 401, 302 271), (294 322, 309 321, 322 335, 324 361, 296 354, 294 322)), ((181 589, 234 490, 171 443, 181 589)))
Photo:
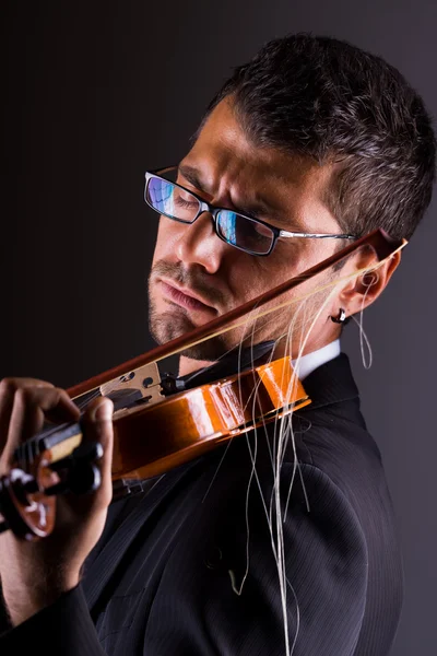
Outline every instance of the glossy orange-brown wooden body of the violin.
POLYGON ((114 415, 113 479, 152 478, 308 405, 290 358, 114 415))

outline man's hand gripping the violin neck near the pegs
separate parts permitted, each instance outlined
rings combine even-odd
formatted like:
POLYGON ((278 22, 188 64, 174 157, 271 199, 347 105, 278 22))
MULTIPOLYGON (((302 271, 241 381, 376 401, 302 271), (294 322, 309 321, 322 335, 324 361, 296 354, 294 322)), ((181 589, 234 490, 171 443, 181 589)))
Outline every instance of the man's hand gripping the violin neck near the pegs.
MULTIPOLYGON (((14 625, 74 587, 81 567, 102 535, 111 500, 113 403, 99 397, 83 418, 83 440, 99 442, 104 455, 97 466, 102 484, 85 495, 57 499, 54 531, 35 542, 0 535, 0 577, 14 625)), ((0 383, 0 475, 8 473, 16 446, 42 430, 46 420, 78 421, 80 412, 68 394, 33 378, 0 383)))

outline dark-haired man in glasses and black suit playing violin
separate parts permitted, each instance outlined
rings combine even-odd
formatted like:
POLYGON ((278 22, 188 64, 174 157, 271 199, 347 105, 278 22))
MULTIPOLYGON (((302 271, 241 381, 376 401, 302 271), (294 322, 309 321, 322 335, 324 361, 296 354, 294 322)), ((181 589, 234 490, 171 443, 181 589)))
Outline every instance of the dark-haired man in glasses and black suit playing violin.
MULTIPOLYGON (((162 214, 153 336, 165 342, 200 326, 378 226, 410 238, 434 171, 429 118, 398 71, 334 39, 267 44, 211 103, 176 172, 146 176, 145 199, 162 214)), ((54 532, 37 543, 1 536, 2 654, 34 644, 81 655, 388 654, 401 558, 379 452, 339 337, 399 261, 397 254, 368 273, 375 256, 358 250, 306 283, 303 313, 260 318, 249 332, 234 329, 182 354, 185 383, 252 341, 261 359, 267 344, 275 358, 298 360, 312 402, 293 415, 280 479, 272 424, 107 512, 111 405, 92 405, 85 438, 105 447, 101 488, 60 500, 54 532)), ((3 380, 2 471, 44 419, 78 417, 48 383, 3 380)))

